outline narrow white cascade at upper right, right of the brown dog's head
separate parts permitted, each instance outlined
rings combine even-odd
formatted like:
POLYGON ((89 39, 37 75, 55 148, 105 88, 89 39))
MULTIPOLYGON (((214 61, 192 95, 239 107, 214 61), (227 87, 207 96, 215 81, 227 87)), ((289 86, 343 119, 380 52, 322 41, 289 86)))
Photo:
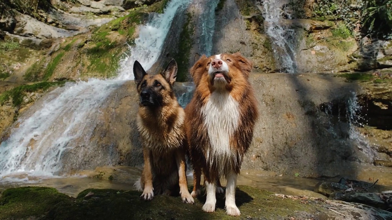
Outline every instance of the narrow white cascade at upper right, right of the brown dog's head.
MULTIPOLYGON (((263 16, 265 33, 272 41, 274 58, 280 65, 283 72, 296 73, 297 65, 295 61, 296 50, 295 31, 282 25, 283 11, 282 6, 289 3, 288 0, 264 0, 263 16)), ((290 14, 287 14, 290 18, 290 14)))

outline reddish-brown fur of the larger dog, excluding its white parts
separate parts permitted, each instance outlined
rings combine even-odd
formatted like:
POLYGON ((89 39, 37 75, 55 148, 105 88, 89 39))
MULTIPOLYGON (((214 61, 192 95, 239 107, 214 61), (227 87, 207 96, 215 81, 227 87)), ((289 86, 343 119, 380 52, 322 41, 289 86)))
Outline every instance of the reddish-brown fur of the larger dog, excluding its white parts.
MULTIPOLYGON (((225 89, 238 103, 239 120, 234 134, 229 137, 229 146, 234 157, 231 163, 223 166, 227 170, 233 170, 240 174, 241 163, 252 142, 253 130, 258 118, 257 101, 254 91, 249 82, 249 74, 252 63, 241 56, 239 52, 234 54, 220 54, 223 61, 227 61, 229 67, 228 76, 230 83, 225 89), (231 166, 231 167, 230 167, 231 166)), ((219 177, 226 173, 220 173, 217 164, 207 162, 207 152, 212 148, 210 138, 205 126, 202 108, 207 104, 212 92, 216 90, 213 79, 209 75, 209 63, 215 59, 215 55, 207 58, 205 55, 191 68, 191 76, 195 84, 195 92, 191 102, 185 108, 185 132, 189 145, 189 157, 194 168, 194 188, 192 196, 200 192, 200 175, 208 182, 219 183, 219 177)))

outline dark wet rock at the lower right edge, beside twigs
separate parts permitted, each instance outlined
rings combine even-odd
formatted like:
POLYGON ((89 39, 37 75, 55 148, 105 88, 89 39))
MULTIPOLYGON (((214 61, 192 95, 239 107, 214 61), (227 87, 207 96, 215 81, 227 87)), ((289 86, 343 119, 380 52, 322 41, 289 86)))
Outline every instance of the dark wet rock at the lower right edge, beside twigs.
POLYGON ((361 203, 384 210, 392 208, 392 193, 335 192, 330 198, 361 203))

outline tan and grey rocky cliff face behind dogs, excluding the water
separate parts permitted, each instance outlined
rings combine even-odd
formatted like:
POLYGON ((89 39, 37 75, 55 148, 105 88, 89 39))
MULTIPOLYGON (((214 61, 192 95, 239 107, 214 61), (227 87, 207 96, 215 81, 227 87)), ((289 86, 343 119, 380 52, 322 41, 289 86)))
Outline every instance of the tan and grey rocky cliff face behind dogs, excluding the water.
MULTIPOLYGON (((3 140, 18 126, 13 123, 19 115, 33 111, 36 100, 43 103, 45 92, 54 86, 65 81, 115 76, 127 44, 132 45, 138 36, 137 25, 145 22, 151 12, 162 13, 168 1, 29 2, 0 3, 3 140)), ((276 58, 283 55, 274 49, 274 39, 265 32, 269 24, 265 22, 262 2, 211 2, 217 5, 213 11, 211 53, 241 51, 252 60, 255 72, 274 73, 252 75, 261 119, 244 168, 319 177, 338 175, 338 168, 343 166, 355 173, 358 162, 391 161, 391 128, 387 123, 392 117, 390 41, 361 36, 356 26, 331 17, 329 9, 321 7, 319 1, 298 1, 301 4, 296 7, 286 2, 281 6, 280 25, 292 31, 296 70, 305 74, 276 74, 282 71, 276 58), (344 115, 347 100, 353 97, 358 97, 363 107, 357 111, 362 116, 361 124, 348 124, 344 115), (359 144, 359 136, 350 137, 350 126, 358 130, 356 125, 363 127, 356 134, 367 135, 363 138, 370 144, 359 144)), ((152 70, 157 72, 174 57, 179 63, 178 80, 190 80, 187 70, 202 55, 203 47, 198 20, 203 8, 199 3, 193 2, 174 19, 176 25, 172 26, 163 56, 152 70)), ((358 8, 354 6, 347 8, 355 13, 358 8)), ((336 10, 338 15, 346 13, 336 10)), ((184 90, 182 84, 176 84, 178 91, 184 90)), ((101 118, 91 125, 95 129, 89 146, 81 139, 75 148, 65 152, 64 172, 92 169, 108 161, 142 164, 134 125, 137 108, 133 81, 118 88, 105 103, 101 118), (98 150, 78 155, 80 149, 87 147, 98 150)))

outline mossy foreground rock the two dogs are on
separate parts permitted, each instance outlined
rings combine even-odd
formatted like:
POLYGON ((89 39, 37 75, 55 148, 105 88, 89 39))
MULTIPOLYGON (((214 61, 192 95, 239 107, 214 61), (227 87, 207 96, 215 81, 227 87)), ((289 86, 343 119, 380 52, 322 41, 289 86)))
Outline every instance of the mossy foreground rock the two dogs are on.
MULTIPOLYGON (((240 219, 392 218, 392 213, 372 207, 274 195, 249 186, 239 186, 236 198, 241 211, 240 219)), ((152 201, 145 202, 140 200, 139 192, 113 189, 86 189, 73 198, 54 188, 21 187, 2 193, 0 219, 237 219, 226 215, 223 195, 218 196, 214 213, 203 212, 203 202, 205 197, 196 199, 194 205, 183 204, 179 197, 169 196, 156 196, 152 201)))

